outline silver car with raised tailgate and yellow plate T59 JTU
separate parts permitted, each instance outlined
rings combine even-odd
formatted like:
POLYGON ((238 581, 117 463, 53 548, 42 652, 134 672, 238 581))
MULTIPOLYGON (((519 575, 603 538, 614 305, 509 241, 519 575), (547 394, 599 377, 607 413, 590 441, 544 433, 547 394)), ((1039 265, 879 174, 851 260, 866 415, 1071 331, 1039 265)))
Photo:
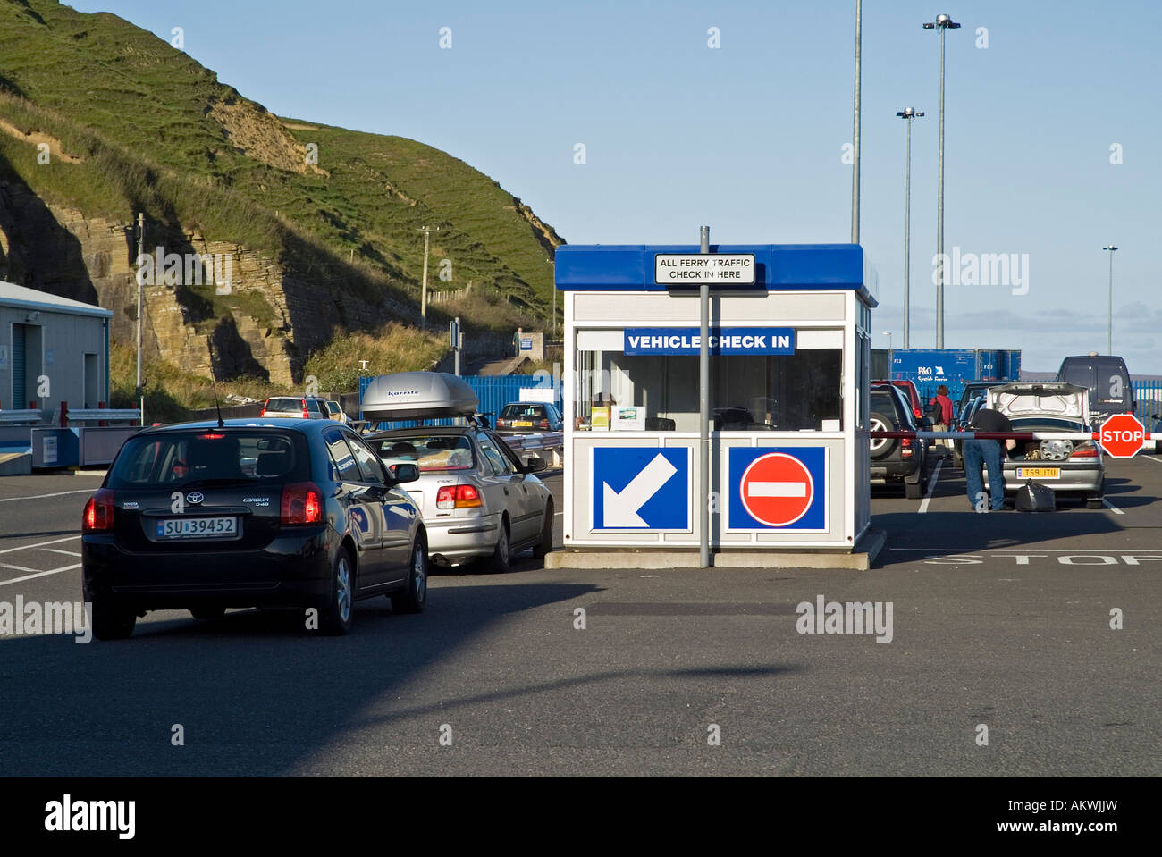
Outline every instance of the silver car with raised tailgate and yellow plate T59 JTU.
MULTIPOLYGON (((1063 382, 1018 382, 990 387, 985 408, 1000 411, 1024 432, 1088 432, 1089 389, 1063 382)), ((1105 494, 1102 448, 1093 440, 1018 440, 1004 461, 1005 492, 1033 480, 1056 495, 1082 497, 1100 509, 1105 494)), ((985 477, 987 481, 988 477, 985 477)), ((991 490, 991 489, 990 489, 991 490)))

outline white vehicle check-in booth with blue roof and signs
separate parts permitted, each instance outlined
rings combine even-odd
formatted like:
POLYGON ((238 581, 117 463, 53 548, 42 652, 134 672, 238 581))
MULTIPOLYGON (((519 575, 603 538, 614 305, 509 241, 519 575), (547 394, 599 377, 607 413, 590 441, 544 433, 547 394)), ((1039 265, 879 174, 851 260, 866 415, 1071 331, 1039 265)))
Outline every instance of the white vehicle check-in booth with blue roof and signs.
POLYGON ((847 553, 870 523, 869 266, 853 244, 561 246, 564 545, 847 553), (700 259, 702 261, 700 261, 700 259), (710 287, 710 473, 698 480, 710 287))

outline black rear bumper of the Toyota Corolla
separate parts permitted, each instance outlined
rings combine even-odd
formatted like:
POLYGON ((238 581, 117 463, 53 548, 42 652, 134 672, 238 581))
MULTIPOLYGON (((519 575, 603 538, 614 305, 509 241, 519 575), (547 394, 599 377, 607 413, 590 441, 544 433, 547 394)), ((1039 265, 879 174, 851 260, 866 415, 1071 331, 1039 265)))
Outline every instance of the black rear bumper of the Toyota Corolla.
POLYGON ((136 553, 112 535, 81 542, 85 599, 114 599, 136 610, 317 606, 331 588, 327 531, 274 539, 259 550, 136 553))

